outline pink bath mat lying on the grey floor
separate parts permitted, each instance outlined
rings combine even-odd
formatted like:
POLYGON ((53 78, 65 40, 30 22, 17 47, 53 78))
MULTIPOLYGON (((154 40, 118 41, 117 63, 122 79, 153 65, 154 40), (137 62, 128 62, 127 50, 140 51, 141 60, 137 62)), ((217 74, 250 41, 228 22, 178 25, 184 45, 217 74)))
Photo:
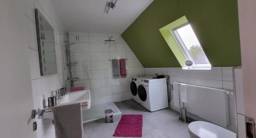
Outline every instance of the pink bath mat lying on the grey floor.
POLYGON ((122 115, 113 136, 141 137, 142 126, 142 115, 122 115))

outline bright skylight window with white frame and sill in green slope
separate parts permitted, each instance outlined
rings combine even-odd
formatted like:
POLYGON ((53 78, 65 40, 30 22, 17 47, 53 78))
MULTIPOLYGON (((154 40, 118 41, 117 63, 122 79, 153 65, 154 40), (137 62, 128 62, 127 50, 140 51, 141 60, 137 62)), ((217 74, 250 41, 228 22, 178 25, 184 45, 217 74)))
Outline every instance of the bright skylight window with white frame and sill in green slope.
POLYGON ((186 60, 193 62, 192 66, 183 67, 183 69, 201 69, 210 70, 211 65, 207 59, 201 44, 190 24, 184 24, 171 30, 172 35, 177 41, 186 60))

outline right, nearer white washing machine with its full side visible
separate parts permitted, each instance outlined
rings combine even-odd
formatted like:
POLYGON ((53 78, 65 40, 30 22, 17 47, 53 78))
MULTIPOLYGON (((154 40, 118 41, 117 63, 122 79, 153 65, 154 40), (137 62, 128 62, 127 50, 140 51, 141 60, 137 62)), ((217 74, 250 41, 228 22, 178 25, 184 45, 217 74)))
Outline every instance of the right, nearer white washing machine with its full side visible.
POLYGON ((151 112, 168 107, 166 78, 137 78, 138 103, 151 112))

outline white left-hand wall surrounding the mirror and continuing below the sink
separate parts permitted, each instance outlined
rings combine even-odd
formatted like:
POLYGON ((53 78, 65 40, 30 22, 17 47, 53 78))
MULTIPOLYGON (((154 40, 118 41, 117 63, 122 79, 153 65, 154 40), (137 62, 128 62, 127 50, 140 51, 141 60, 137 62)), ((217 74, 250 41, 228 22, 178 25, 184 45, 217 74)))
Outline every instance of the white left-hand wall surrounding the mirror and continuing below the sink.
MULTIPOLYGON (((31 83, 33 91, 34 108, 42 108, 42 95, 47 97, 50 95, 50 91, 55 91, 65 86, 65 74, 63 69, 63 58, 62 58, 62 34, 63 26, 61 21, 58 19, 49 0, 24 0, 25 4, 25 18, 26 18, 26 32, 28 55, 30 62, 31 72, 31 83), (54 37, 55 37, 55 50, 56 50, 56 62, 57 62, 57 74, 49 76, 40 76, 37 38, 36 38, 36 25, 34 8, 38 9, 42 15, 48 20, 53 26, 54 37)), ((49 131, 54 130, 51 125, 51 120, 37 119, 37 138, 49 137, 47 136, 49 131)), ((52 136, 50 136, 52 137, 52 136)))

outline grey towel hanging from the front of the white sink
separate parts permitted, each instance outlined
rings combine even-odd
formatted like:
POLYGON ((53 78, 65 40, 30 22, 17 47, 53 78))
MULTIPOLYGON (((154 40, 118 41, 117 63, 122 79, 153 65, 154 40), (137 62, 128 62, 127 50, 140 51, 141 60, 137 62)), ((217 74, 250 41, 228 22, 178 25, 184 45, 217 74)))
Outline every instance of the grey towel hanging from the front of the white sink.
POLYGON ((56 138, 82 138, 81 103, 56 106, 52 111, 56 138))

